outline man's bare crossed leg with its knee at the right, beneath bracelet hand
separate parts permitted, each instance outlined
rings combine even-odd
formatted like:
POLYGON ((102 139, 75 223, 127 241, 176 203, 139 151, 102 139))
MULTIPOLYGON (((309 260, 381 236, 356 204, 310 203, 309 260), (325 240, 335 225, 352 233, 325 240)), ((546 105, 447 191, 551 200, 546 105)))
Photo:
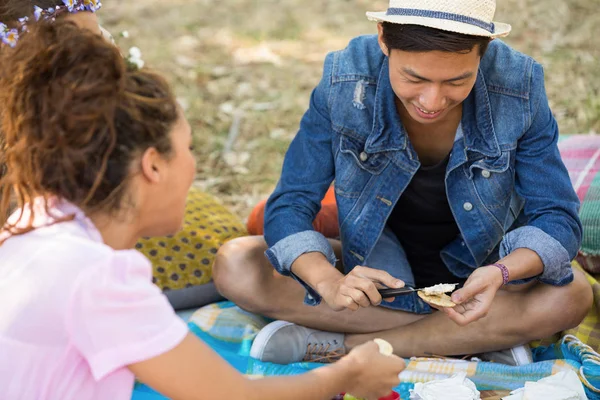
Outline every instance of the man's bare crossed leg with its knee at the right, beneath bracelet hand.
POLYGON ((490 312, 479 321, 460 327, 437 312, 401 328, 376 334, 346 336, 346 346, 381 337, 398 355, 460 355, 501 350, 551 336, 577 326, 592 303, 585 276, 565 287, 535 284, 521 291, 498 292, 490 312))

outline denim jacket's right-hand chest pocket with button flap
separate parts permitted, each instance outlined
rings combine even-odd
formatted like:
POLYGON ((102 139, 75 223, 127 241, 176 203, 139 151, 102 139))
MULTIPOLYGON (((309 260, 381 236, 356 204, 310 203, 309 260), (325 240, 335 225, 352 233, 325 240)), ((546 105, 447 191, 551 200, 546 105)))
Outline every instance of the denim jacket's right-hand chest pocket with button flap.
POLYGON ((483 204, 489 209, 505 207, 514 190, 514 157, 504 151, 500 157, 484 157, 468 167, 468 175, 483 204))

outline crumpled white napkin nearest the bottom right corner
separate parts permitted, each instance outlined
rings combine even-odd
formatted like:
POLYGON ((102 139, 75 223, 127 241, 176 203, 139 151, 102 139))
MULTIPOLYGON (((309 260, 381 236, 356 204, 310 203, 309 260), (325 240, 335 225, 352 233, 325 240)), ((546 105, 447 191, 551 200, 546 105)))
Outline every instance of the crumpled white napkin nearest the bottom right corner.
POLYGON ((503 400, 587 400, 583 385, 573 371, 562 371, 510 392, 503 400))

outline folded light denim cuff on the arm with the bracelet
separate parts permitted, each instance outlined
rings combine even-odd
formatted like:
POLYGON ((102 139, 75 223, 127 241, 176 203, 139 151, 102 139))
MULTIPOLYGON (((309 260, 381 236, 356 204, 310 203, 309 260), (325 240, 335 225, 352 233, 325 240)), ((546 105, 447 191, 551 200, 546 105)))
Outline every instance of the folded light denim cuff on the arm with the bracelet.
MULTIPOLYGON (((500 244, 500 258, 518 248, 533 250, 544 263, 544 272, 537 277, 541 282, 553 286, 564 286, 573 281, 573 269, 569 253, 562 244, 546 232, 534 226, 522 226, 507 233, 500 244)), ((535 278, 513 281, 521 284, 535 278)))

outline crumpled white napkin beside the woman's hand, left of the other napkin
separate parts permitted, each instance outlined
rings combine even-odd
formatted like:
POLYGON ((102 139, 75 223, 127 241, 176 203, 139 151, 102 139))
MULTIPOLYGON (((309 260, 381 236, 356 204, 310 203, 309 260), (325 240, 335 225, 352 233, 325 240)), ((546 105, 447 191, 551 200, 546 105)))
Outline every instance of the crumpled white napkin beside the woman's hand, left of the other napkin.
MULTIPOLYGON (((475 384, 464 372, 447 379, 416 383, 410 390, 411 400, 480 400, 475 384)), ((512 400, 512 399, 511 399, 512 400)))

